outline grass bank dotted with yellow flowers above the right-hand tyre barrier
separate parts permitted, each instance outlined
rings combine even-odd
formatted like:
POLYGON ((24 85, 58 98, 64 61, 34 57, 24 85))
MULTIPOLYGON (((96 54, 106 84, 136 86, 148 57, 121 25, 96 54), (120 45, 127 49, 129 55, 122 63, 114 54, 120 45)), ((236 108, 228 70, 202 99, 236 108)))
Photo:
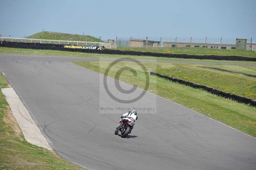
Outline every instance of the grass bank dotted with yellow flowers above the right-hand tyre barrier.
MULTIPOLYGON (((176 64, 168 68, 157 68, 154 72, 168 75, 171 77, 194 82, 196 84, 206 85, 214 89, 248 97, 256 100, 256 78, 249 77, 238 73, 229 73, 210 68, 198 67, 200 65, 179 65, 176 64)), ((226 68, 226 66, 210 66, 226 68)), ((229 66, 228 68, 230 68, 229 66)), ((236 66, 234 69, 250 70, 250 73, 256 72, 256 66, 236 66), (250 69, 251 70, 250 70, 250 69)), ((233 70, 234 70, 233 69, 233 70)))

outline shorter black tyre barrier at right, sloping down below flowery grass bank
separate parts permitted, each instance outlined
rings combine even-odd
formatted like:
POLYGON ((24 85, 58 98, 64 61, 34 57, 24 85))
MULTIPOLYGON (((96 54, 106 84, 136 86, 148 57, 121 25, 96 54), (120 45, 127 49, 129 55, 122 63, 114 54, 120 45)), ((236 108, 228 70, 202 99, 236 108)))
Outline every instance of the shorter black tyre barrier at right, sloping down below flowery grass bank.
POLYGON ((169 76, 154 73, 154 72, 150 72, 150 74, 168 79, 170 81, 179 82, 180 84, 185 84, 187 86, 190 86, 190 87, 193 87, 193 88, 196 88, 196 89, 204 89, 204 90, 208 91, 209 93, 212 93, 212 94, 224 97, 224 98, 229 98, 229 99, 235 100, 237 102, 241 102, 241 103, 245 103, 245 104, 248 104, 248 105, 256 106, 256 101, 254 101, 250 98, 241 97, 241 96, 234 95, 234 94, 231 94, 231 93, 226 93, 226 92, 220 91, 218 89, 213 89, 213 88, 210 88, 210 87, 207 87, 207 86, 204 86, 204 85, 195 84, 195 83, 192 83, 190 81, 185 81, 185 80, 169 77, 169 76))

